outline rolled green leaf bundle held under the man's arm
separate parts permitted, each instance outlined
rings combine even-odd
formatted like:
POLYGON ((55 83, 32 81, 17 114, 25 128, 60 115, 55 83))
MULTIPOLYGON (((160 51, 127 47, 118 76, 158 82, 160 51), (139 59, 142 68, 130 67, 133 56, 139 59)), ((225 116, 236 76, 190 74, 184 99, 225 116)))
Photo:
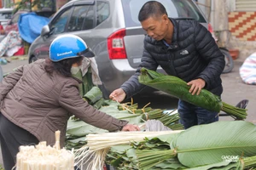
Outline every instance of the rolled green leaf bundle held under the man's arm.
POLYGON ((182 99, 190 104, 200 106, 208 111, 224 111, 237 119, 245 119, 247 110, 228 105, 215 94, 201 89, 199 95, 189 93, 187 82, 173 76, 167 76, 156 71, 151 71, 146 68, 141 69, 141 75, 138 78, 139 82, 160 91, 171 94, 172 96, 182 99))

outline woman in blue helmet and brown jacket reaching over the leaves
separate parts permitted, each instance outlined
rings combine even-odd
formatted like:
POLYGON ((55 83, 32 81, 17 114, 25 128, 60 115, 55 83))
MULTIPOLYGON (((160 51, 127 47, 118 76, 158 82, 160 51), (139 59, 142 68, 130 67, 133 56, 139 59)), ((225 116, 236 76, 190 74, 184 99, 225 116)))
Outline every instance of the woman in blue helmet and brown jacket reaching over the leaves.
POLYGON ((47 141, 55 144, 55 131, 61 131, 64 144, 67 120, 73 114, 80 120, 108 131, 136 131, 139 127, 97 111, 79 96, 79 80, 71 73, 84 57, 94 54, 79 37, 55 38, 49 59, 20 66, 0 84, 0 142, 6 170, 15 166, 20 145, 47 141))

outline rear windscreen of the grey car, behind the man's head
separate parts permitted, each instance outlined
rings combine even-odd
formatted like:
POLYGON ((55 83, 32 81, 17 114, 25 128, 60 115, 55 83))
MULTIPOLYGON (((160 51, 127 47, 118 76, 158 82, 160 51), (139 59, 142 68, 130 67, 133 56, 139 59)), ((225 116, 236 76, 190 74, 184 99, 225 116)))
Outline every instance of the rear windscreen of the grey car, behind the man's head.
MULTIPOLYGON (((122 0, 122 5, 125 14, 125 25, 141 26, 138 18, 139 10, 144 3, 149 0, 122 0)), ((195 6, 194 3, 188 0, 156 0, 162 3, 169 17, 171 18, 193 18, 199 22, 206 22, 205 18, 195 6)))

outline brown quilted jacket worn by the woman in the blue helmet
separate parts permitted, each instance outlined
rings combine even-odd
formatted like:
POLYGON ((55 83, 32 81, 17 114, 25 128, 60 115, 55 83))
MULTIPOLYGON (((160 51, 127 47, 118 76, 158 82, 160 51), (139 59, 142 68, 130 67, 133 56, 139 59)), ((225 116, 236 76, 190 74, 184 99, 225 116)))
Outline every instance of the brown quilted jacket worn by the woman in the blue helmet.
POLYGON ((40 59, 20 66, 0 83, 0 103, 3 116, 38 138, 55 144, 55 131, 61 131, 64 144, 67 120, 75 115, 93 126, 117 131, 128 122, 96 110, 79 96, 79 82, 44 70, 40 59))

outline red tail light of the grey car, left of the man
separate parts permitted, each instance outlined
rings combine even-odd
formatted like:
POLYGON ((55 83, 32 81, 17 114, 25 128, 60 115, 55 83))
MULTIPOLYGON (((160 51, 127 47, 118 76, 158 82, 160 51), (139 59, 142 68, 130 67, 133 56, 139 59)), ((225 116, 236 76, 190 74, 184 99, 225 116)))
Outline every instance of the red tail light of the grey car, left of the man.
POLYGON ((126 59, 125 51, 125 29, 113 32, 108 37, 108 55, 109 59, 126 59))

